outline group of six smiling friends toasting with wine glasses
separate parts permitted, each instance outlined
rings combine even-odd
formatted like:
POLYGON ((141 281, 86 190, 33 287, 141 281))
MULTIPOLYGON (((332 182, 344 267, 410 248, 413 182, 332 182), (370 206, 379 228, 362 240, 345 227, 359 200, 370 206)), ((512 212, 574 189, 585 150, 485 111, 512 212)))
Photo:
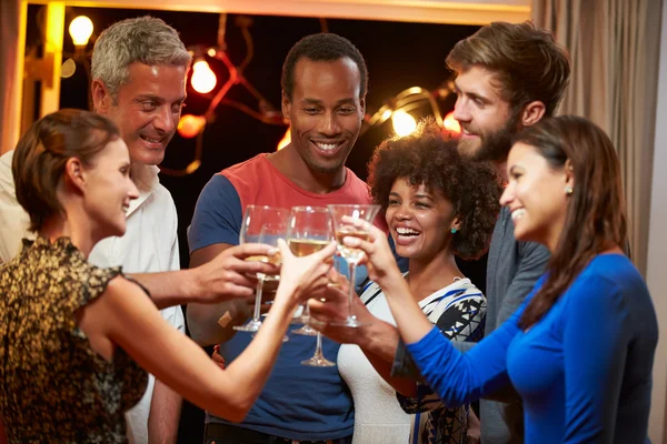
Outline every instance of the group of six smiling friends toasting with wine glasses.
POLYGON ((368 183, 345 167, 364 57, 305 37, 282 67, 291 142, 211 178, 180 270, 157 165, 190 63, 163 21, 115 23, 92 53, 93 112, 49 114, 0 158, 0 442, 175 443, 181 396, 206 410, 206 444, 647 441, 656 315, 625 254, 615 148, 555 117, 570 64, 549 32, 496 22, 458 42, 461 134, 427 119, 387 139, 368 183), (341 203, 384 215, 344 241, 368 273, 357 329, 334 326, 357 284, 327 284, 334 243, 302 258, 279 243, 279 270, 245 261, 276 248, 239 245, 247 205, 341 203), (485 295, 456 258, 487 251, 485 295), (233 326, 258 272, 280 283, 251 336, 233 326), (335 367, 300 364, 312 337, 282 343, 306 301, 335 367))

